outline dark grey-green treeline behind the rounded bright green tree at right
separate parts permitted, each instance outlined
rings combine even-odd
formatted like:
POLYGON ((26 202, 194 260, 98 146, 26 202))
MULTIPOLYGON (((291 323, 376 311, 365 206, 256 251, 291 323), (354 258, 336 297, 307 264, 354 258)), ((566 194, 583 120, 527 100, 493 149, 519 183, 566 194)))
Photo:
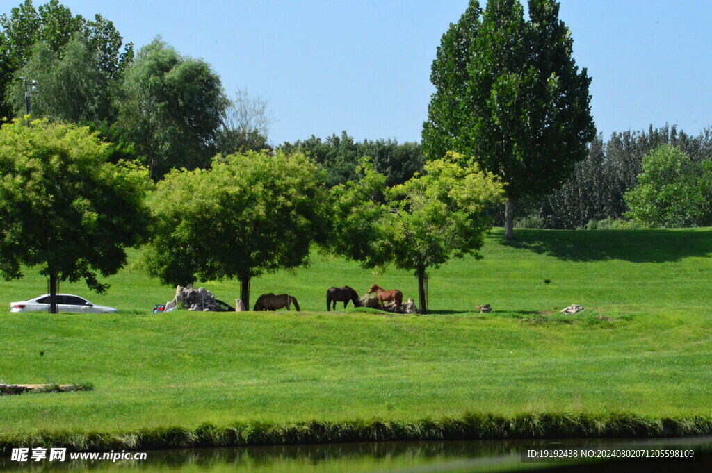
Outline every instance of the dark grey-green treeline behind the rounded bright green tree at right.
MULTIPOLYGON (((541 202, 529 202, 526 226, 541 228, 595 228, 602 220, 628 218, 626 193, 637 188, 643 158, 669 144, 692 162, 712 158, 712 130, 697 136, 665 125, 648 131, 613 133, 604 142, 601 134, 590 144, 586 159, 576 164, 569 179, 541 202)), ((700 169, 701 172, 701 169, 700 169)), ((672 181, 674 176, 667 176, 672 181)), ((665 178, 664 178, 665 179, 665 178)), ((664 182, 659 183, 660 186, 664 182)), ((668 183, 670 184, 670 183, 668 183)), ((709 203, 707 203, 709 205, 709 203)))

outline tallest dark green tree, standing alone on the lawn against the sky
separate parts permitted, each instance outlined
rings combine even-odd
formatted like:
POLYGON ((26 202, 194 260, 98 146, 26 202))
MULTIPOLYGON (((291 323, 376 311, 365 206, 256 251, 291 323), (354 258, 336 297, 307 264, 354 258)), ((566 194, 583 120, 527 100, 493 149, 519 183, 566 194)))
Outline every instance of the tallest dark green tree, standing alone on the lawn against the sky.
POLYGON ((476 156, 506 182, 506 238, 514 205, 545 196, 586 157, 595 137, 590 78, 572 58, 570 31, 554 0, 472 0, 443 36, 423 127, 429 159, 446 151, 476 156))

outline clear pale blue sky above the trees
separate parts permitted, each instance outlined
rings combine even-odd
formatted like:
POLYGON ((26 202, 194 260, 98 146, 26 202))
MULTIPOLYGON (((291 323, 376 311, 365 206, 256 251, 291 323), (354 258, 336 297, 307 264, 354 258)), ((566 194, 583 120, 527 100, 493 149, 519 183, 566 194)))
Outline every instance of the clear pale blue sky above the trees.
MULTIPOLYGON (((9 12, 20 0, 0 0, 9 12)), ((45 3, 35 0, 36 6, 45 3)), ((61 0, 114 21, 140 47, 161 35, 203 58, 229 95, 269 102, 270 141, 346 130, 419 141, 430 65, 466 0, 61 0)), ((484 2, 482 2, 484 3, 484 2)), ((561 0, 577 65, 593 78, 597 129, 712 125, 712 1, 561 0)))

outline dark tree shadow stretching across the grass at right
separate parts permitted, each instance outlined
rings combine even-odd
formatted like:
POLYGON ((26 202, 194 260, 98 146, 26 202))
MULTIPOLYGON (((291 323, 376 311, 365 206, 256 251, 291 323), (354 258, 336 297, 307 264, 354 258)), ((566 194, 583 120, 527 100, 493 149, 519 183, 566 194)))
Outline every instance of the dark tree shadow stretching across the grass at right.
POLYGON ((712 229, 518 229, 503 244, 566 261, 674 262, 712 255, 712 229))

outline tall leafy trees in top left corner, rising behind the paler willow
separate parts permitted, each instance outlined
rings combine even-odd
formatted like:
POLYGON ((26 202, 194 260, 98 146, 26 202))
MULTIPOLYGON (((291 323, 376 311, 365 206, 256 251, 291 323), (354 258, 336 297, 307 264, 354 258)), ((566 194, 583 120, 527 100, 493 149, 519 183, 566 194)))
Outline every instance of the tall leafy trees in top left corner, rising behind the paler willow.
MULTIPOLYGON (((73 16, 58 0, 48 1, 38 9, 31 0, 25 0, 9 15, 0 15, 0 117, 16 115, 19 104, 14 100, 14 90, 19 86, 13 83, 23 75, 19 71, 31 60, 36 45, 43 44, 54 60, 62 60, 66 45, 78 34, 90 50, 98 54, 98 71, 108 78, 109 84, 119 80, 132 61, 133 46, 124 45, 113 23, 102 16, 96 15, 93 21, 73 16)), ((34 68, 37 66, 38 61, 34 68)), ((41 83, 41 87, 44 85, 41 83)), ((24 112, 23 109, 19 116, 24 112)))

